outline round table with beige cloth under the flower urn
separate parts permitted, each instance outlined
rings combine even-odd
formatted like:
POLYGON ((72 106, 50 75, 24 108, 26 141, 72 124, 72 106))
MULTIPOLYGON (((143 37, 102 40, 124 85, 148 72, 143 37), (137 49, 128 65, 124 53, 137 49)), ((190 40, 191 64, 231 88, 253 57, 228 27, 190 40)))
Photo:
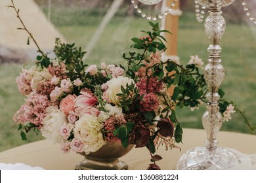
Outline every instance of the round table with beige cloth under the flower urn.
MULTIPOLYGON (((182 154, 196 146, 204 146, 205 131, 203 129, 183 129, 184 135, 179 149, 165 150, 160 146, 156 154, 163 159, 158 161, 161 169, 175 169, 175 165, 182 154)), ((232 148, 242 154, 256 154, 256 135, 220 131, 219 146, 232 148)), ((83 160, 83 156, 70 151, 63 154, 58 144, 51 141, 37 141, 11 148, 0 153, 1 163, 25 163, 32 167, 42 167, 48 170, 72 170, 75 164, 83 160)), ((148 167, 150 154, 146 148, 133 148, 131 152, 120 158, 129 165, 129 169, 143 170, 148 167)))

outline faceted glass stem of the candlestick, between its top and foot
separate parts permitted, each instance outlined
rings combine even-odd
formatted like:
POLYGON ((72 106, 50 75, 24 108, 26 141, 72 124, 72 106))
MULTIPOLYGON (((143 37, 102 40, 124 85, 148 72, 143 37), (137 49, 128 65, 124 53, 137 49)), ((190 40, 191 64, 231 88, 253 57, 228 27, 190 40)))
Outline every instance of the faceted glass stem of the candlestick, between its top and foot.
POLYGON ((205 20, 205 32, 210 41, 207 49, 209 52, 208 64, 205 66, 203 76, 207 84, 208 100, 207 111, 203 114, 202 123, 207 133, 205 146, 209 150, 217 148, 217 133, 223 124, 223 118, 219 112, 219 87, 224 78, 224 69, 221 65, 221 46, 219 41, 223 36, 226 22, 221 15, 222 12, 217 7, 210 7, 209 16, 205 20))

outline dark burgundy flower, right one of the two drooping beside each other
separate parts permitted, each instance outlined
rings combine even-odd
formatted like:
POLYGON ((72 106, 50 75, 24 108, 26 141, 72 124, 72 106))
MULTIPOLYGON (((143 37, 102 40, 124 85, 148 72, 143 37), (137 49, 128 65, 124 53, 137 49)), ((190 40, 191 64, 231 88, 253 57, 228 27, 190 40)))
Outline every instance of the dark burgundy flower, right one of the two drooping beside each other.
POLYGON ((156 127, 158 127, 160 130, 159 133, 163 135, 163 137, 173 137, 174 125, 169 118, 162 118, 156 127))

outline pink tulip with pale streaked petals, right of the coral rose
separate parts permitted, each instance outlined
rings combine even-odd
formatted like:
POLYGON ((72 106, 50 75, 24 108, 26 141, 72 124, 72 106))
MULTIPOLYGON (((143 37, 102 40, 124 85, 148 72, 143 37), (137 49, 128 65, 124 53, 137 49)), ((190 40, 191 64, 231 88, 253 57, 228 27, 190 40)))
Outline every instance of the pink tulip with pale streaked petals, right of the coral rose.
POLYGON ((89 106, 93 106, 97 103, 96 97, 91 95, 91 93, 87 93, 87 92, 80 92, 80 93, 81 95, 79 95, 75 99, 75 107, 86 108, 89 106))

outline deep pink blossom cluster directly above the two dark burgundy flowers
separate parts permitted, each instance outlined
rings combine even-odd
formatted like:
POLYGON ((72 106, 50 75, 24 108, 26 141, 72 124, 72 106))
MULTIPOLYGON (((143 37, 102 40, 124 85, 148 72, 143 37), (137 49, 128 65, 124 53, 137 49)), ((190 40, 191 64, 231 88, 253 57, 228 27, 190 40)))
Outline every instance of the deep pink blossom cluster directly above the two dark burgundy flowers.
POLYGON ((146 93, 143 97, 143 101, 140 101, 140 109, 142 112, 156 110, 158 106, 158 95, 155 93, 146 93))

